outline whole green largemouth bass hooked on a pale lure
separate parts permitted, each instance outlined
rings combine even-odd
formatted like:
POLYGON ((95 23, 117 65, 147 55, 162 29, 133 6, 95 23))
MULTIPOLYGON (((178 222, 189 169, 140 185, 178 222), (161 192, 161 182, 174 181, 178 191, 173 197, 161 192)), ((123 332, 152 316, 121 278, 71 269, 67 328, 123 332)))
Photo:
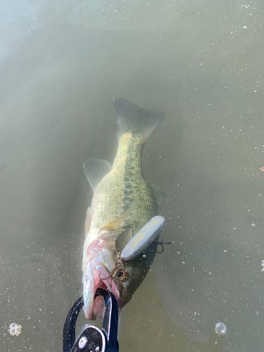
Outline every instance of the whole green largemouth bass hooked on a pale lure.
POLYGON ((157 241, 131 260, 120 259, 126 244, 151 218, 158 215, 164 193, 150 184, 142 171, 142 151, 165 113, 139 108, 115 99, 118 151, 113 165, 87 159, 84 173, 94 194, 85 220, 82 258, 84 315, 100 316, 96 289, 110 291, 119 310, 128 303, 146 277, 157 251, 157 241))

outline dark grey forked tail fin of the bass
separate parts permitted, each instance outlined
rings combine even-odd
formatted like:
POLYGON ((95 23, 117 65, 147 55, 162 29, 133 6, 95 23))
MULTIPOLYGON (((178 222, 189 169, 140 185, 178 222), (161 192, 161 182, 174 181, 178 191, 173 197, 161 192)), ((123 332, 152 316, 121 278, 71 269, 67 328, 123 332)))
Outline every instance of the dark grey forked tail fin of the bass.
POLYGON ((115 111, 118 122, 118 137, 126 132, 139 133, 144 142, 156 130, 165 113, 139 108, 125 99, 115 99, 115 111))

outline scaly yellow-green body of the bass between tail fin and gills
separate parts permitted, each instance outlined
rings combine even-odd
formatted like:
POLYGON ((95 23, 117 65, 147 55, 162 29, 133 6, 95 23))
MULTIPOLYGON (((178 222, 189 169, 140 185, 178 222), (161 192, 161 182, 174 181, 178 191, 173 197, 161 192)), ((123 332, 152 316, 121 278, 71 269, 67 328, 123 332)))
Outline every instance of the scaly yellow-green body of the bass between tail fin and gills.
POLYGON ((98 196, 93 206, 97 211, 94 211, 91 230, 112 221, 111 213, 120 216, 130 207, 132 213, 125 220, 125 226, 131 226, 133 234, 157 215, 158 203, 142 173, 142 150, 143 142, 134 141, 132 134, 120 139, 113 168, 96 189, 98 196), (130 149, 129 155, 127 149, 130 149), (127 189, 132 189, 131 194, 127 189))

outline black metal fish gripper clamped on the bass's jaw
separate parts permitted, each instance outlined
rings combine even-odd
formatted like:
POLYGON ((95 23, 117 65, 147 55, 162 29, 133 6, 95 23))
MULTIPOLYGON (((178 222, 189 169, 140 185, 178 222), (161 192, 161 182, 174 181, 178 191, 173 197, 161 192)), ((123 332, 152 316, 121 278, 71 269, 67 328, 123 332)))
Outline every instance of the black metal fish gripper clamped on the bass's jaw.
POLYGON ((80 297, 70 309, 63 327, 63 352, 118 352, 118 302, 106 289, 96 289, 97 296, 103 296, 105 310, 102 329, 86 327, 75 341, 75 325, 84 305, 80 297))

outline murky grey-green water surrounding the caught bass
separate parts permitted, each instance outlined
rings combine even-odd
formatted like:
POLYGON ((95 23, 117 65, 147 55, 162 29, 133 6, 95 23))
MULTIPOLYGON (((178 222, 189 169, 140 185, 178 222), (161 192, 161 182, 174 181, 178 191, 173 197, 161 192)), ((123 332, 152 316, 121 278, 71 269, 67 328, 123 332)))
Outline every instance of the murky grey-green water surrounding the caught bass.
POLYGON ((82 163, 113 161, 117 147, 111 92, 89 67, 116 98, 166 113, 143 163, 166 192, 172 244, 122 312, 120 352, 261 351, 263 2, 2 1, 1 11, 1 351, 60 351, 82 294, 92 199, 82 163))

